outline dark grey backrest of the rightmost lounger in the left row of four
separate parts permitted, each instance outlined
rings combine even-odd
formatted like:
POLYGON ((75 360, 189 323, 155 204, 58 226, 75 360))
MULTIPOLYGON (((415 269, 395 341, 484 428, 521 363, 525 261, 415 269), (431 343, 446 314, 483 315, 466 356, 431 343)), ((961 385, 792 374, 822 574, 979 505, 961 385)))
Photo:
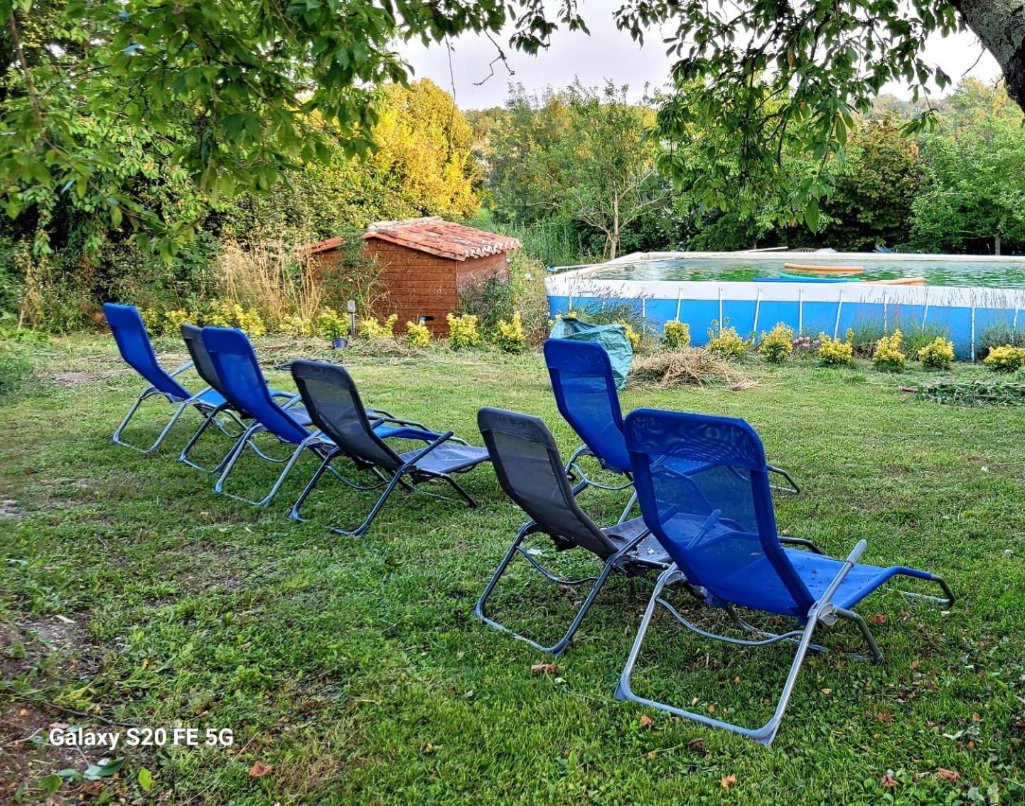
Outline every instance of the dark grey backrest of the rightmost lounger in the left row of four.
POLYGON ((293 361, 292 377, 314 425, 346 455, 372 467, 399 469, 402 457, 374 433, 344 367, 323 361, 293 361))

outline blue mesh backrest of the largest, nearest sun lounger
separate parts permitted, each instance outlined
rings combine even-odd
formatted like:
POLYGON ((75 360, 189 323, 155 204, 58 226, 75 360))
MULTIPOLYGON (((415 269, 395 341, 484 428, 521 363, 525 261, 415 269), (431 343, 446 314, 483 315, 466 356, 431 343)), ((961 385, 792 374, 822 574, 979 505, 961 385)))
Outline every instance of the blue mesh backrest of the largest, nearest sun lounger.
POLYGON ((807 614, 814 599, 780 546, 765 449, 747 422, 638 409, 625 436, 645 523, 691 585, 712 600, 807 614))

